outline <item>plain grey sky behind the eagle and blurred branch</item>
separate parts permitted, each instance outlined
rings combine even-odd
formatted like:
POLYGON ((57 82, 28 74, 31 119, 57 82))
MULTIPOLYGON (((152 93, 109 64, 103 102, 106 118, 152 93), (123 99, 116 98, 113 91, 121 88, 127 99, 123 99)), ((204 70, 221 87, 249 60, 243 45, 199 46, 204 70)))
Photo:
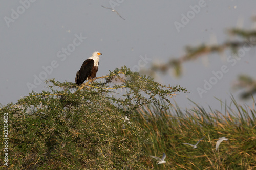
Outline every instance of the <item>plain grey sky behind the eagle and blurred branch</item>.
MULTIPOLYGON (((25 0, 22 2, 26 2, 25 0)), ((206 6, 200 9, 194 18, 180 32, 174 22, 181 22, 182 15, 191 11, 191 6, 199 1, 35 1, 25 9, 24 13, 7 26, 4 17, 11 18, 12 9, 17 11, 22 6, 20 1, 2 1, 0 6, 0 103, 6 105, 17 102, 28 95, 27 83, 33 83, 34 75, 44 71, 53 60, 58 64, 46 79, 74 82, 76 71, 82 62, 94 51, 103 54, 100 58, 97 76, 108 74, 109 70, 123 65, 133 69, 142 66, 142 57, 152 59, 143 64, 145 69, 152 62, 166 62, 169 58, 185 54, 186 45, 196 46, 202 43, 223 43, 232 39, 227 29, 239 27, 256 28, 251 21, 255 16, 256 1, 205 1, 206 6), (111 2, 119 2, 115 10, 125 18, 121 19, 109 9, 111 2), (120 3, 121 2, 121 3, 120 3), (76 38, 75 34, 87 37, 75 50, 61 61, 57 53, 67 48, 76 38)), ((231 85, 238 74, 248 74, 255 78, 255 48, 246 52, 237 64, 231 66, 220 54, 213 54, 206 59, 198 59, 184 64, 184 74, 176 78, 172 72, 167 75, 157 74, 155 80, 163 84, 179 84, 190 93, 176 95, 173 98, 179 106, 193 106, 189 98, 202 106, 210 105, 220 108, 215 99, 230 102, 230 95, 238 99, 239 92, 231 85), (208 63, 208 64, 205 64, 208 63), (203 88, 204 79, 209 80, 212 71, 227 65, 229 72, 223 75, 203 97, 200 98, 197 88, 203 88)), ((229 51, 223 56, 228 57, 229 51)), ((34 91, 40 92, 45 83, 41 83, 34 91)), ((241 101, 240 104, 252 106, 252 100, 241 101)))

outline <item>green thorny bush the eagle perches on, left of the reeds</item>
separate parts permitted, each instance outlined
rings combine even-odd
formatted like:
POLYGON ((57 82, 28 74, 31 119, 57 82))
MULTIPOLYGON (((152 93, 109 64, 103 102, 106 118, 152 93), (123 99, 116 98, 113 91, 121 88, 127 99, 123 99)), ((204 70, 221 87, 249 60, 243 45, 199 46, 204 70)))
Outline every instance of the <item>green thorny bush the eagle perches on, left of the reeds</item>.
POLYGON ((146 132, 124 116, 136 116, 136 109, 153 103, 168 109, 175 92, 186 92, 125 66, 81 87, 54 79, 46 83, 49 91, 31 92, 0 110, 8 114, 11 166, 143 169, 140 160, 145 159, 142 146, 147 142, 146 132))

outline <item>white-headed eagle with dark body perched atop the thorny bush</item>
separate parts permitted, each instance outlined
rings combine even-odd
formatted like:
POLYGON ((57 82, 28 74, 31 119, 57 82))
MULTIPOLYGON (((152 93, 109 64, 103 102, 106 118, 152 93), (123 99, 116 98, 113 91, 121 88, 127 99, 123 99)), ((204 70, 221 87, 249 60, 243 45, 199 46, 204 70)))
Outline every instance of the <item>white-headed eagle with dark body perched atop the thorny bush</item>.
POLYGON ((96 77, 96 73, 99 69, 99 55, 102 55, 100 52, 94 52, 91 57, 82 63, 82 66, 79 71, 76 73, 75 82, 79 86, 86 79, 93 79, 96 77))

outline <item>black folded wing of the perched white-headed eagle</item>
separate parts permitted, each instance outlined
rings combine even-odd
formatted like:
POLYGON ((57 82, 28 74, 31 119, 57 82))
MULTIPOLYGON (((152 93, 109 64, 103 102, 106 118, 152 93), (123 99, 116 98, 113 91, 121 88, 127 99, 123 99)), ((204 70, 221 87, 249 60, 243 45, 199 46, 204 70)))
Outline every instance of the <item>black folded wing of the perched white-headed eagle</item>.
POLYGON ((86 81, 87 77, 90 76, 93 64, 93 59, 87 59, 82 63, 82 66, 80 70, 77 71, 75 78, 75 82, 78 86, 81 85, 84 81, 86 81))

